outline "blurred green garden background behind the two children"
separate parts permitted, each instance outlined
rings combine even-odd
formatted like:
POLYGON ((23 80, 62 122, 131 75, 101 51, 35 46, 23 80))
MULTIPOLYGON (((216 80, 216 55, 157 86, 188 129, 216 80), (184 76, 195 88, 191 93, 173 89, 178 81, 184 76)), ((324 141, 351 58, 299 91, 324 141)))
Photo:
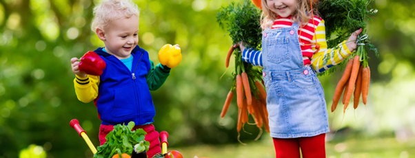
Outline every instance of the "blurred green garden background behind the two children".
MULTIPOLYGON (((216 12, 232 1, 134 0, 141 8, 139 45, 154 63, 165 43, 181 45, 181 64, 151 93, 156 130, 168 131, 169 149, 185 157, 274 157, 267 133, 253 141, 259 133, 254 125, 245 126, 252 135, 241 133, 247 145, 239 144, 236 100, 225 118, 219 117, 234 67, 232 61, 227 71, 224 66, 232 41, 216 23, 216 12)), ((69 122, 78 119, 96 146, 101 122, 92 102, 77 100, 70 58, 103 47, 90 30, 97 2, 0 1, 1 158, 92 157, 69 122)), ((415 157, 415 1, 375 0, 372 5, 378 13, 368 34, 380 56, 371 54, 368 104, 345 115, 329 113, 330 158, 415 157)), ((340 72, 320 77, 329 106, 340 77, 340 72)))

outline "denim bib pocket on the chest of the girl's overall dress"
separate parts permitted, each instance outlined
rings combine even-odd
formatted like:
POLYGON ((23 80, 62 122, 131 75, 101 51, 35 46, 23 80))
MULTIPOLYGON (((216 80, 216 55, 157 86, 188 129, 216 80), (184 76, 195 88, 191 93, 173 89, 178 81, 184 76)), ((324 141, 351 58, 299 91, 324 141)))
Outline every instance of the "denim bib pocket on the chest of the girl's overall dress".
POLYGON ((266 43, 268 61, 278 64, 290 59, 289 38, 268 38, 266 43))

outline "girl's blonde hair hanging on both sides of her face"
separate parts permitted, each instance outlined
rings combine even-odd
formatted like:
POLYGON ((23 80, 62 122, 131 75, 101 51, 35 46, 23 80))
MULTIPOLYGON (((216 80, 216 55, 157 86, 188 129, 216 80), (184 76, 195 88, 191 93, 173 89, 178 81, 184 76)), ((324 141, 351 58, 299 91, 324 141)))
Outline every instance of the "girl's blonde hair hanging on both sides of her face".
MULTIPOLYGON (((296 10, 293 12, 291 19, 296 23, 301 23, 301 26, 306 25, 310 19, 312 19, 312 9, 311 5, 313 6, 313 14, 319 16, 317 10, 317 3, 315 0, 296 0, 296 10)), ((262 5, 262 14, 261 14, 261 28, 265 30, 267 27, 271 27, 272 23, 278 16, 275 12, 272 12, 270 8, 268 8, 267 0, 261 0, 262 5)))

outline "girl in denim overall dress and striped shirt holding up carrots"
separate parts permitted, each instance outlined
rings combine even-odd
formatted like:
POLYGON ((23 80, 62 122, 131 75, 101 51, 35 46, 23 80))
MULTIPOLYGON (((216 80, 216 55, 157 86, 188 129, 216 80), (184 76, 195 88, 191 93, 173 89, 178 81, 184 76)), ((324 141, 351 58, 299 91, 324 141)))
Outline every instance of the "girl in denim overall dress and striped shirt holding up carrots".
POLYGON ((243 51, 245 62, 263 67, 270 135, 276 157, 325 157, 329 132, 324 90, 316 73, 350 56, 361 29, 338 49, 327 49, 324 21, 312 0, 262 0, 262 52, 243 51), (312 9, 313 8, 313 9, 312 9), (350 42, 349 42, 350 41, 350 42), (325 54, 334 51, 327 63, 325 54))

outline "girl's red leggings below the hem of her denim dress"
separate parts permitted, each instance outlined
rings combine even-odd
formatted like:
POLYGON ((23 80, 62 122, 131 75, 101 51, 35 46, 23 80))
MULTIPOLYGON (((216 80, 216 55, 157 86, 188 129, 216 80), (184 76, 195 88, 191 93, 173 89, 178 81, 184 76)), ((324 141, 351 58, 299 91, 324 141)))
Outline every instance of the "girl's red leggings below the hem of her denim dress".
POLYGON ((300 158, 300 148, 303 158, 325 157, 325 133, 314 137, 272 139, 274 139, 276 158, 300 158))

